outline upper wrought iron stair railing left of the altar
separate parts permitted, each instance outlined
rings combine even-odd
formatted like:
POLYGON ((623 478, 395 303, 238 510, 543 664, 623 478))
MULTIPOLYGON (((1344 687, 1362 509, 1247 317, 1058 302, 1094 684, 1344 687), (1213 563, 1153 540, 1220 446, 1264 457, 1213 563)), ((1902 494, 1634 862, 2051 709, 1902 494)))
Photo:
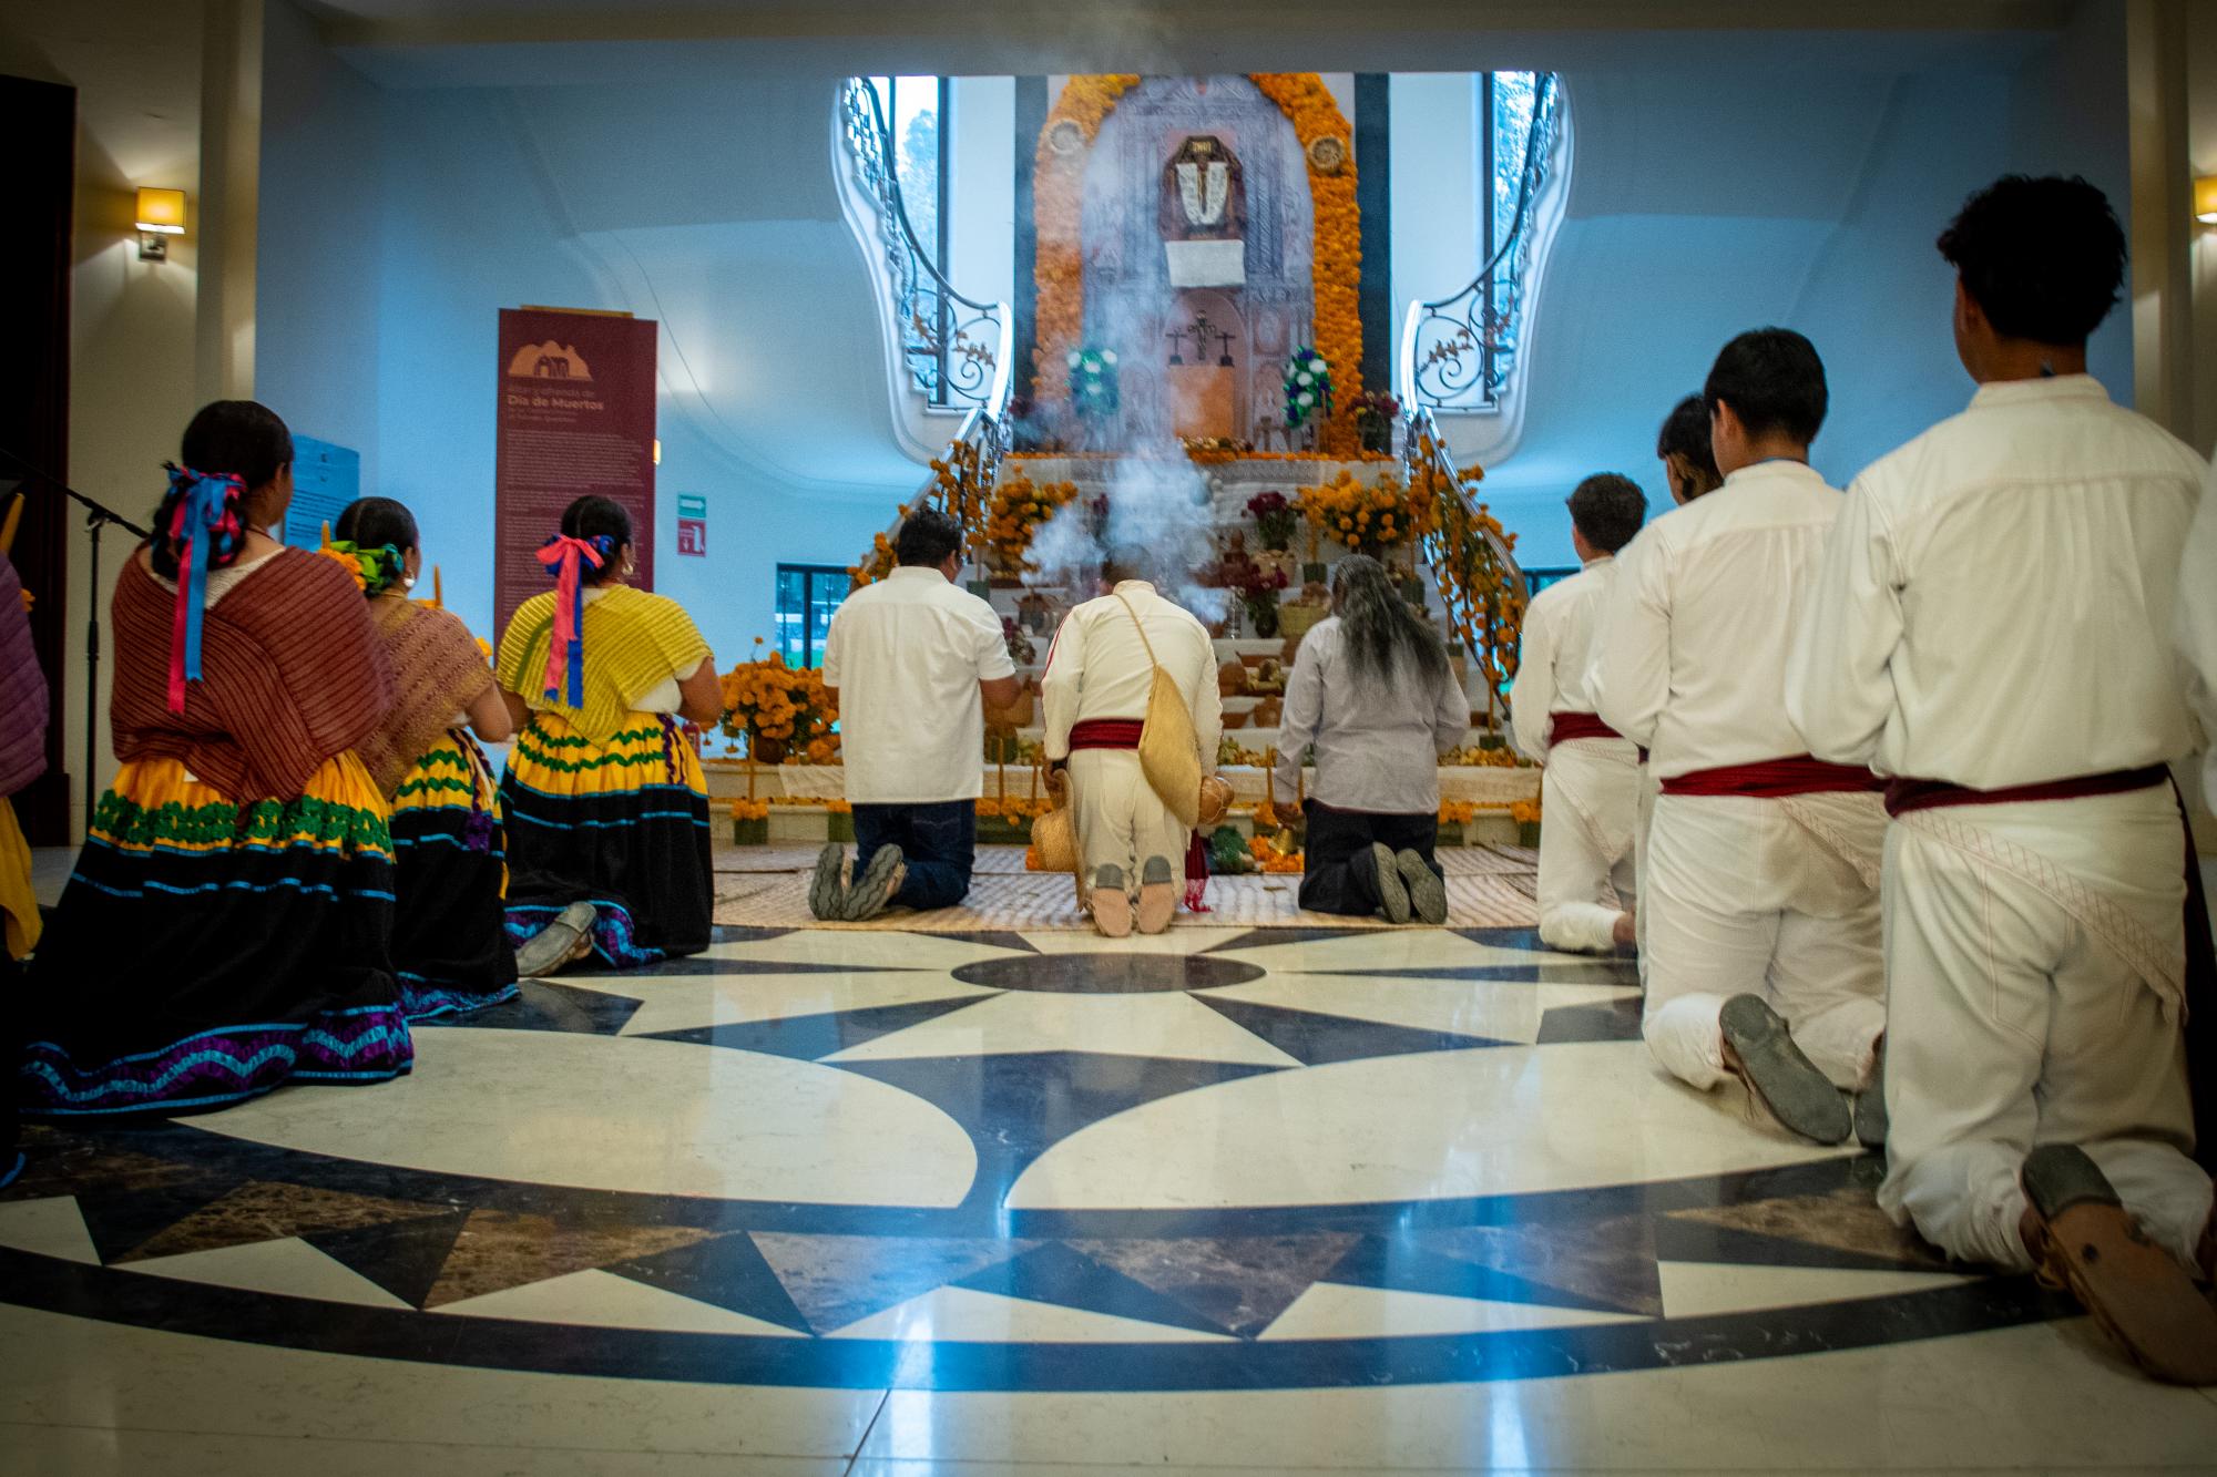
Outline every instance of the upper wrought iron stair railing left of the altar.
POLYGON ((867 78, 847 78, 840 120, 856 175, 878 208, 885 273, 909 384, 924 404, 944 410, 982 408, 991 417, 1009 404, 1013 339, 1009 304, 964 297, 947 279, 909 224, 893 164, 893 131, 867 78))

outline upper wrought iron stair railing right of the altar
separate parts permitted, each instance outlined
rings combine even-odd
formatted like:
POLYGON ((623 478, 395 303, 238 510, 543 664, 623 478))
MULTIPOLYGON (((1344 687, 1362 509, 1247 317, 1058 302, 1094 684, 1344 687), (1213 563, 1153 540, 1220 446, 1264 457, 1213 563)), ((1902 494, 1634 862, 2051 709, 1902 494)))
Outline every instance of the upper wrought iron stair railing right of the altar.
MULTIPOLYGON (((1534 215, 1561 133, 1561 80, 1539 73, 1532 131, 1516 175, 1516 213, 1470 284, 1439 302, 1414 302, 1401 333, 1401 399, 1428 410, 1492 410, 1516 368, 1530 288, 1534 215)), ((1488 120, 1492 126, 1492 120, 1488 120)), ((1485 182, 1492 189, 1492 180, 1485 182)), ((1492 246, 1492 242, 1488 242, 1492 246)))

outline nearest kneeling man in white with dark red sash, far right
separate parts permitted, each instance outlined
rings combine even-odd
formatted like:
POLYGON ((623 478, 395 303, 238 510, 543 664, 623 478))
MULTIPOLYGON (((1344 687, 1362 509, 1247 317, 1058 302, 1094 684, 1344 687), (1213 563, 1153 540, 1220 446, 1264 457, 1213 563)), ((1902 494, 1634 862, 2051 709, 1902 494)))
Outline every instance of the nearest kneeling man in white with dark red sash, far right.
POLYGON ((1878 1200, 2217 1382, 2166 772, 2201 743, 2173 610, 2204 466, 2086 375, 2124 282, 2097 189, 2000 180, 1940 255, 1980 390, 1856 481, 1787 685, 1816 754, 1891 776, 1878 1200))

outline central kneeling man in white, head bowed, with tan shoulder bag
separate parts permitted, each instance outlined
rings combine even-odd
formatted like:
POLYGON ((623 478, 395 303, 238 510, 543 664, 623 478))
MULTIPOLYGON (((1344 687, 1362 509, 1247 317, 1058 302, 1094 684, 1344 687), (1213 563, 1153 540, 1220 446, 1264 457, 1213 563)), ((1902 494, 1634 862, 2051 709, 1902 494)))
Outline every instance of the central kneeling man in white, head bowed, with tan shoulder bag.
POLYGON ((1124 938, 1159 934, 1177 914, 1193 834, 1146 783, 1140 734, 1159 663, 1193 714, 1202 774, 1224 738, 1208 630, 1140 579, 1142 554, 1102 563, 1102 597, 1062 619, 1040 679, 1046 758, 1066 765, 1077 823, 1080 896, 1093 925, 1124 938))

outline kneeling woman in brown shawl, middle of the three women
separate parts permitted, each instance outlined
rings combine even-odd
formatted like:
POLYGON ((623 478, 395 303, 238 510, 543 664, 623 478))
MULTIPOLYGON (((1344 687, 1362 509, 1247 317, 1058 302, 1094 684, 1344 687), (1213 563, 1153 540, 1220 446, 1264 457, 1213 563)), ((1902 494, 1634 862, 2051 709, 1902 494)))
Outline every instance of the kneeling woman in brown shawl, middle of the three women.
POLYGON ((517 951, 501 900, 499 785, 470 732, 505 741, 508 703, 470 628, 408 599, 423 570, 408 508, 390 497, 348 503, 328 552, 361 583, 392 661, 392 710, 359 754, 392 805, 401 1005, 408 1020, 497 1005, 517 994, 517 951))

